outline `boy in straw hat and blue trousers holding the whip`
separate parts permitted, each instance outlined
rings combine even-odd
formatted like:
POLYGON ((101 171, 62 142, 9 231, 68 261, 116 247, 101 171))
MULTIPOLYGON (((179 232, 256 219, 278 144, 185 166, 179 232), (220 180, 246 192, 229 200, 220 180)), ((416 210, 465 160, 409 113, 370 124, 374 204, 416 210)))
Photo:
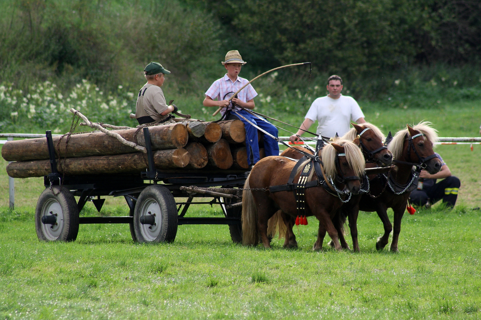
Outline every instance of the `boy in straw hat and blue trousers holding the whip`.
MULTIPOLYGON (((255 165, 260 160, 259 144, 257 143, 257 129, 254 128, 246 120, 238 117, 249 119, 259 128, 266 130, 273 136, 278 136, 278 130, 266 119, 258 118, 244 109, 252 110, 255 107, 254 97, 257 95, 251 84, 247 85, 239 92, 237 97, 228 101, 230 96, 237 92, 243 85, 249 83, 247 79, 239 77, 241 68, 245 62, 242 60, 241 54, 237 50, 231 50, 226 54, 225 61, 221 62, 227 70, 224 77, 216 80, 210 88, 205 92, 203 101, 204 107, 223 107, 220 111, 224 119, 239 119, 244 123, 246 132, 247 160, 249 166, 255 165), (217 99, 216 101, 214 99, 217 99)), ((266 156, 279 155, 278 142, 271 137, 264 135, 264 150, 266 156)))

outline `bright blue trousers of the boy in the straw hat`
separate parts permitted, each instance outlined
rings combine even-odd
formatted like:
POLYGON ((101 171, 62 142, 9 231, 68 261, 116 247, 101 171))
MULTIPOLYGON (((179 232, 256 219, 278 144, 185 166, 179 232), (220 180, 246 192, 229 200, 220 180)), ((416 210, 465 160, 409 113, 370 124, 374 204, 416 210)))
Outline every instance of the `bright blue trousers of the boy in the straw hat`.
MULTIPOLYGON (((245 110, 232 111, 233 114, 241 114, 242 117, 249 119, 251 122, 255 123, 259 128, 266 130, 273 136, 278 136, 278 130, 271 123, 269 123, 264 118, 259 119, 256 116, 248 113, 245 110)), ((247 147, 247 161, 250 165, 255 165, 259 160, 259 144, 257 143, 257 128, 254 128, 249 122, 239 117, 239 119, 244 122, 245 127, 245 142, 247 147)), ((264 134, 264 151, 266 156, 269 155, 279 155, 279 145, 278 142, 271 137, 264 134)))

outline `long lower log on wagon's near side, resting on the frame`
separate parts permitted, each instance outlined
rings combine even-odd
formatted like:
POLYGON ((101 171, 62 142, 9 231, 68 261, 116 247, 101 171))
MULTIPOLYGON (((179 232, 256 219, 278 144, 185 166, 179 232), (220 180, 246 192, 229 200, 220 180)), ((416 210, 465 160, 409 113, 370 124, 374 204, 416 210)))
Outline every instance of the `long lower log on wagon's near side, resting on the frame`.
MULTIPOLYGON (((153 160, 156 169, 183 168, 189 164, 190 155, 185 149, 158 150, 153 160)), ((139 152, 66 158, 57 162, 59 173, 66 175, 138 173, 147 167, 147 157, 139 152)), ((7 174, 12 178, 43 177, 50 173, 49 160, 12 162, 7 166, 7 174)))

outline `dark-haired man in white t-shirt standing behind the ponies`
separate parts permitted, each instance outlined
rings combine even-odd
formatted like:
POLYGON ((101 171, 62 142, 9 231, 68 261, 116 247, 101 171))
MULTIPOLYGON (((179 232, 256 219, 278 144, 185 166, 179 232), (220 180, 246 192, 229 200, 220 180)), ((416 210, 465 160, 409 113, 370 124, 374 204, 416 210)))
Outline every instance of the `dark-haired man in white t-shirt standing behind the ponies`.
POLYGON ((366 122, 364 113, 353 97, 341 95, 342 79, 338 75, 331 75, 328 78, 327 89, 329 95, 319 97, 312 103, 309 111, 305 115, 301 129, 296 134, 291 135, 291 142, 299 142, 299 136, 309 130, 317 120, 316 133, 326 137, 334 137, 336 133, 343 136, 349 131, 351 121, 358 124, 366 122))

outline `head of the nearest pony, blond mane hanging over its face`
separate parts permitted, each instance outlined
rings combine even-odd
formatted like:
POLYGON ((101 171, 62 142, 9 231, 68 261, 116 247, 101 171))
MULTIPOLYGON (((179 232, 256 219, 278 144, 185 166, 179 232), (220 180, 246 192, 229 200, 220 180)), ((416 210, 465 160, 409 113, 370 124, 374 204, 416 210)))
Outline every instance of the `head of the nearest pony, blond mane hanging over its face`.
POLYGON ((336 175, 347 177, 348 179, 342 182, 347 185, 347 188, 353 194, 358 194, 361 189, 360 179, 364 176, 366 165, 364 156, 356 143, 359 143, 358 139, 355 139, 355 142, 339 139, 326 145, 321 152, 326 176, 333 181, 336 175), (336 165, 336 157, 338 157, 339 166, 336 165), (355 178, 349 179, 352 177, 355 178))

